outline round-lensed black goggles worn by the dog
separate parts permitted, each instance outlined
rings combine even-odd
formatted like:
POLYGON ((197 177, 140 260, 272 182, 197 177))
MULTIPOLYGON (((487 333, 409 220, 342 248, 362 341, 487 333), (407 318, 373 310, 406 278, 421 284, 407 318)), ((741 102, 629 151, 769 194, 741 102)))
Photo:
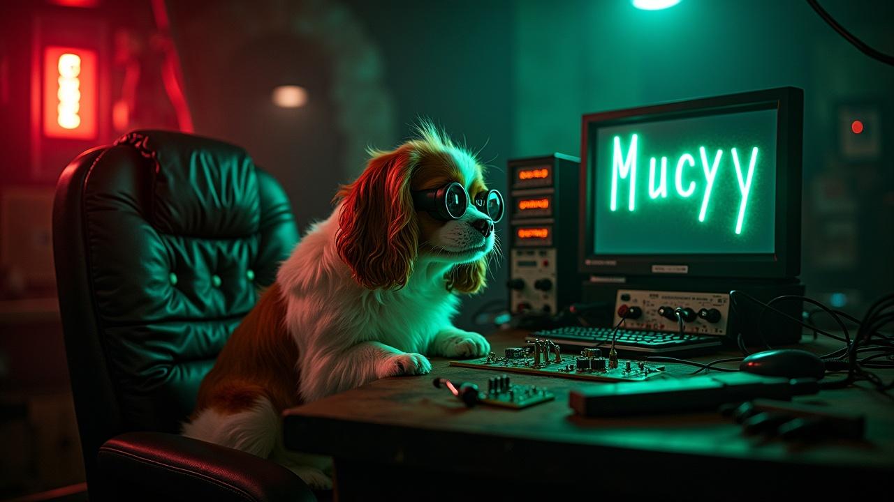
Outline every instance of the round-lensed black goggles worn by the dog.
MULTIPOLYGON (((414 191, 413 204, 443 222, 459 220, 468 208, 468 192, 460 183, 452 181, 439 188, 414 191)), ((505 207, 502 194, 497 190, 479 192, 472 204, 494 223, 500 221, 505 207)))

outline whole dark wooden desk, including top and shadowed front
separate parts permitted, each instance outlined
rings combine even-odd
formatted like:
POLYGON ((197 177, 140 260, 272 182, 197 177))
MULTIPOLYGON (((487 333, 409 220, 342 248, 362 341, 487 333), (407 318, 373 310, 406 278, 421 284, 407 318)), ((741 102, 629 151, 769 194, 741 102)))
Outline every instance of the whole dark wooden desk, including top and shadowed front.
MULTIPOLYGON (((499 354, 523 337, 520 331, 504 331, 489 339, 499 354)), ((822 352, 834 346, 804 345, 811 347, 822 352)), ((721 356, 737 355, 696 359, 721 356)), ((695 368, 669 364, 668 369, 686 374, 695 368)), ((781 495, 783 487, 826 498, 836 491, 852 495, 854 483, 890 494, 894 399, 871 389, 798 397, 860 410, 868 420, 865 441, 797 447, 744 436, 736 423, 716 413, 612 419, 572 414, 569 389, 600 383, 512 373, 513 381, 556 394, 555 401, 520 411, 470 409, 432 385, 434 376, 443 376, 481 387, 494 374, 433 359, 430 375, 374 381, 292 408, 284 421, 286 447, 333 456, 337 496, 350 500, 580 495, 590 500, 607 494, 753 500, 781 495), (755 497, 755 490, 761 494, 755 497)))

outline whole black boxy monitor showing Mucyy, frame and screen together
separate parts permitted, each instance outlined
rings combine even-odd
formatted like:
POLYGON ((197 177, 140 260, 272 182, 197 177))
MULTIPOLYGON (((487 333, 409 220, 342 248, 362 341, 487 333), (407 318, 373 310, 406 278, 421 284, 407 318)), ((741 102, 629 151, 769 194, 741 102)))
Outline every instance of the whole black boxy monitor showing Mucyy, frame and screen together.
POLYGON ((800 272, 804 93, 774 88, 583 117, 581 272, 800 272))

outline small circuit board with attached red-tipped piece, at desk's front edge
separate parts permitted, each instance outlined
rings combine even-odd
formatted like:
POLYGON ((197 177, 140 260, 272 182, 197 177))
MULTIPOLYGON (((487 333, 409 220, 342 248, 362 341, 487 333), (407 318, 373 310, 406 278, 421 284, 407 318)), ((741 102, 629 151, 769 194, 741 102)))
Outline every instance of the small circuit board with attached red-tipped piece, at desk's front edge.
POLYGON ((441 389, 442 386, 446 387, 453 396, 466 403, 468 407, 482 404, 521 409, 555 399, 555 394, 549 389, 536 385, 511 383, 509 375, 505 374, 488 380, 487 392, 479 391, 476 384, 469 382, 462 382, 457 387, 445 378, 435 378, 433 383, 437 389, 441 389))

